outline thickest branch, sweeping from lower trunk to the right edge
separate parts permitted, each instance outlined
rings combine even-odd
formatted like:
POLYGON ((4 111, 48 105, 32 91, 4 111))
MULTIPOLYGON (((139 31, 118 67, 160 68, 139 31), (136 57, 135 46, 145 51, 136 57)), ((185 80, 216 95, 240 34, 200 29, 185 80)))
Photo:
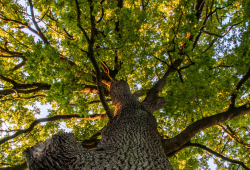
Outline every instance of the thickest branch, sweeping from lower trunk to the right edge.
POLYGON ((163 147, 166 154, 173 152, 175 150, 180 149, 184 144, 186 144, 192 137, 194 137, 198 132, 206 129, 208 127, 212 127, 214 125, 218 125, 223 122, 227 122, 229 120, 235 119, 239 116, 243 116, 245 114, 250 113, 250 108, 246 105, 229 109, 228 111, 209 116, 194 122, 189 125, 184 131, 182 131, 179 135, 167 139, 163 142, 163 147))

